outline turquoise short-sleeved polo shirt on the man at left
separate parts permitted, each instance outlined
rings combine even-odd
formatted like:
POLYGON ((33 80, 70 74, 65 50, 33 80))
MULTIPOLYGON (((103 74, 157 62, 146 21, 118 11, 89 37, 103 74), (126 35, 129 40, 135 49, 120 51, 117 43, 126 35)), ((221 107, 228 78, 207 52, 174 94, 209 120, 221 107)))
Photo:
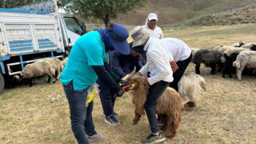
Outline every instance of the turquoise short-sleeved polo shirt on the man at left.
POLYGON ((98 78, 92 66, 104 66, 106 60, 105 45, 98 31, 86 33, 74 43, 61 82, 67 85, 73 80, 74 90, 84 90, 98 78))

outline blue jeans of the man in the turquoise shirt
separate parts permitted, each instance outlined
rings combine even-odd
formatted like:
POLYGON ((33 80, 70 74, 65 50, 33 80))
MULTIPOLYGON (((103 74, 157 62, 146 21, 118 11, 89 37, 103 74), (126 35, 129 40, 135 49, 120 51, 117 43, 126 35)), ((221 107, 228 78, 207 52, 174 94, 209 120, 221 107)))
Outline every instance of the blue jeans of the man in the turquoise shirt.
POLYGON ((90 102, 86 107, 87 89, 74 90, 72 81, 68 85, 62 86, 70 106, 70 120, 74 137, 79 144, 87 144, 89 142, 86 134, 90 136, 96 134, 92 118, 94 102, 90 102))

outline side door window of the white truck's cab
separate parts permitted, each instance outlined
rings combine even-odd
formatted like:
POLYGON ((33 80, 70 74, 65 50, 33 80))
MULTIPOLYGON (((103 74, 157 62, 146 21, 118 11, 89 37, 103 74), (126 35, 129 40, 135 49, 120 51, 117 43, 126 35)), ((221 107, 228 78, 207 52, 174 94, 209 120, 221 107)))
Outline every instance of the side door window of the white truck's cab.
POLYGON ((66 23, 66 28, 76 34, 82 34, 82 28, 79 25, 78 21, 75 18, 64 17, 64 21, 66 23))

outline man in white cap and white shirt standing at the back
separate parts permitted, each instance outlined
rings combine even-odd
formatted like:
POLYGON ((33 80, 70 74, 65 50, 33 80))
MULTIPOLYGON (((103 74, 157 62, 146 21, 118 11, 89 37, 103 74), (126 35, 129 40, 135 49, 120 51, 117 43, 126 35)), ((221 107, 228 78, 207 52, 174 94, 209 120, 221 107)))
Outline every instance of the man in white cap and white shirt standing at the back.
POLYGON ((150 35, 151 37, 162 39, 163 34, 158 24, 158 15, 154 13, 150 13, 146 18, 146 24, 142 26, 145 30, 153 30, 153 33, 150 35))

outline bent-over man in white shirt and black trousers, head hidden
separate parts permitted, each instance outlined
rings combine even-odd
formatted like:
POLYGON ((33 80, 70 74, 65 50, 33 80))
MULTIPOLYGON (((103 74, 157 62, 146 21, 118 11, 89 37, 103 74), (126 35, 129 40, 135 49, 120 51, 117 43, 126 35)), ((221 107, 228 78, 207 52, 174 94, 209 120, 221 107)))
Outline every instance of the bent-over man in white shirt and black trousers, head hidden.
POLYGON ((192 58, 191 49, 178 38, 163 38, 161 42, 166 45, 170 57, 170 66, 174 73, 174 81, 170 82, 169 86, 178 91, 178 82, 192 58))

